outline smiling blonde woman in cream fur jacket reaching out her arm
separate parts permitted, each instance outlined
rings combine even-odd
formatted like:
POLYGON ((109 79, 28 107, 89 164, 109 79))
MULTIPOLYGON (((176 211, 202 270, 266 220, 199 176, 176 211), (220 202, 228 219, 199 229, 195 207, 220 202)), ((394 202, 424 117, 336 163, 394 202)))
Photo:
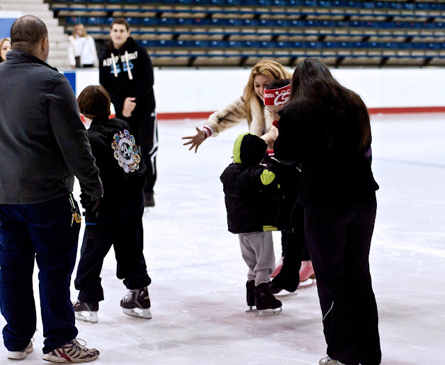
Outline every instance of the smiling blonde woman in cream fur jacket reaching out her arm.
POLYGON ((273 141, 276 138, 275 127, 272 125, 272 116, 264 108, 264 88, 276 79, 289 79, 291 76, 291 72, 280 63, 269 60, 259 61, 250 72, 243 95, 224 109, 211 114, 202 129, 196 127, 197 133, 194 136, 182 137, 189 140, 184 143, 184 146, 190 144, 188 150, 195 148, 196 153, 197 148, 208 137, 216 137, 220 132, 242 121, 248 121, 249 132, 263 138, 268 142, 268 149, 273 149, 273 141))

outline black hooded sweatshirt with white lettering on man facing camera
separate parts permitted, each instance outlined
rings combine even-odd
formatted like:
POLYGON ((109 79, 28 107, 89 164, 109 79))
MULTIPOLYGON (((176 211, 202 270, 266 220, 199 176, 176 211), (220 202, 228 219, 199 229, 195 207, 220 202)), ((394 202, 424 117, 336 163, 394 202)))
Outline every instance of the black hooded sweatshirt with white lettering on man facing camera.
POLYGON ((99 57, 99 81, 110 94, 117 118, 123 118, 125 98, 136 98, 131 118, 125 118, 131 125, 154 111, 152 60, 147 49, 133 38, 129 37, 120 49, 115 49, 111 40, 106 43, 99 57))

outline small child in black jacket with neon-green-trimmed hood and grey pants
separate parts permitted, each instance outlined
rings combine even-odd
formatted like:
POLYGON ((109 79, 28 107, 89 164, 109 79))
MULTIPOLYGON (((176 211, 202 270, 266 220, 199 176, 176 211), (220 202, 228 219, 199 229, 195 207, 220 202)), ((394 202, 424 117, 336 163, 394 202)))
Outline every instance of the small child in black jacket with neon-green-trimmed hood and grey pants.
POLYGON ((220 179, 224 185, 229 231, 238 233, 241 254, 249 267, 247 302, 260 315, 277 313, 282 303, 270 293, 270 274, 275 268, 272 231, 277 231, 280 199, 273 193, 280 187, 275 173, 261 166, 267 143, 243 133, 234 145, 234 162, 220 179), (272 311, 262 312, 271 309, 272 311))

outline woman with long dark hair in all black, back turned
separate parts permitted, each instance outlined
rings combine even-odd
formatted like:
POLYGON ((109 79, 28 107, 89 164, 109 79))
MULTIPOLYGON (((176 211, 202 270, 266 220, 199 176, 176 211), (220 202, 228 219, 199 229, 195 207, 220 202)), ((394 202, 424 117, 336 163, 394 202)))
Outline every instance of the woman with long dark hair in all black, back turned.
POLYGON ((305 59, 280 111, 275 158, 301 166, 305 237, 317 278, 327 357, 378 365, 378 312, 369 272, 375 190, 368 110, 318 59, 305 59))

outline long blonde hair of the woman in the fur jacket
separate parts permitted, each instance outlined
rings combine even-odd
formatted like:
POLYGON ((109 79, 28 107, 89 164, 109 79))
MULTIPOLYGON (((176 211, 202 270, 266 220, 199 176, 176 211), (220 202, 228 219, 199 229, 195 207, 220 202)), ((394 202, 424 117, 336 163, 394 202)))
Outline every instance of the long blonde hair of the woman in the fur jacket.
MULTIPOLYGON (((292 77, 291 72, 287 71, 281 63, 277 63, 275 61, 271 60, 259 61, 259 63, 253 66, 252 72, 250 72, 248 84, 245 87, 245 92, 244 92, 244 98, 245 98, 244 107, 248 111, 249 123, 252 121, 250 98, 252 98, 252 96, 257 96, 253 81, 255 77, 257 77, 258 75, 263 75, 271 80, 289 79, 292 77)), ((261 108, 264 108, 264 104, 262 101, 259 104, 261 108)))

